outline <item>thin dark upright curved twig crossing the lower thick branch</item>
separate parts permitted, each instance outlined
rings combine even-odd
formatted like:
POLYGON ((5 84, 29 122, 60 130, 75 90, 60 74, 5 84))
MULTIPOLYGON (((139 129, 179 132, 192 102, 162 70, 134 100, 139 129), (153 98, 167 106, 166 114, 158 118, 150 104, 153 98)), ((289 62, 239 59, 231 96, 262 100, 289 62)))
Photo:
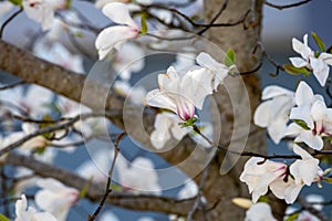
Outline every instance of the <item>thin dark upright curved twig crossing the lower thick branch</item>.
POLYGON ((107 183, 106 183, 106 190, 105 190, 105 193, 103 196, 103 199, 102 201, 100 202, 97 209, 95 210, 95 212, 91 215, 89 214, 89 221, 93 221, 96 219, 96 217, 98 215, 98 213, 102 211, 105 202, 106 202, 106 199, 108 197, 108 194, 112 192, 112 188, 111 188, 111 182, 112 182, 112 176, 113 176, 113 171, 114 171, 114 168, 115 168, 115 161, 116 161, 116 158, 117 158, 117 155, 120 152, 120 149, 118 149, 118 144, 120 141, 122 140, 122 138, 126 135, 126 133, 122 133, 117 136, 115 143, 114 143, 114 156, 113 156, 113 161, 112 161, 112 166, 111 166, 111 169, 108 171, 108 178, 107 178, 107 183))

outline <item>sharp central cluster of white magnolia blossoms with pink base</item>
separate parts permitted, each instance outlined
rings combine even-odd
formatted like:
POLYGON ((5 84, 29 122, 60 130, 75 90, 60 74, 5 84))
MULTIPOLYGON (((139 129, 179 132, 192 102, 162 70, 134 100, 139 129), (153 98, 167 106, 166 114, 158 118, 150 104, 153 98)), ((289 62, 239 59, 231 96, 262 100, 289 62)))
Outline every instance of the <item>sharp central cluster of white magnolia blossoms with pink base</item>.
MULTIPOLYGON (((156 116, 151 141, 158 149, 165 146, 172 135, 180 140, 190 131, 186 126, 193 126, 197 120, 196 108, 203 108, 205 98, 212 94, 228 75, 229 67, 205 52, 196 57, 196 62, 198 65, 180 72, 170 66, 166 74, 158 75, 159 88, 146 95, 146 104, 149 106, 175 114, 160 113, 156 116)), ((211 127, 207 125, 206 128, 211 135, 211 127)))

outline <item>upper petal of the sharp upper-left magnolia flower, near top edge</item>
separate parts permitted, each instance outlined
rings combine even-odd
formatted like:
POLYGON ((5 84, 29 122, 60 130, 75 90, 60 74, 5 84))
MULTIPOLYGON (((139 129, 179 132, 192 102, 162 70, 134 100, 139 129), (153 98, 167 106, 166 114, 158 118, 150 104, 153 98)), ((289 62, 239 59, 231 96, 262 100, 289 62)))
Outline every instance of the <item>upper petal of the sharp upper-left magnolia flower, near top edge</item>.
POLYGON ((103 9, 103 13, 112 21, 118 24, 127 24, 128 27, 139 29, 129 14, 128 7, 125 3, 112 2, 107 3, 103 9))

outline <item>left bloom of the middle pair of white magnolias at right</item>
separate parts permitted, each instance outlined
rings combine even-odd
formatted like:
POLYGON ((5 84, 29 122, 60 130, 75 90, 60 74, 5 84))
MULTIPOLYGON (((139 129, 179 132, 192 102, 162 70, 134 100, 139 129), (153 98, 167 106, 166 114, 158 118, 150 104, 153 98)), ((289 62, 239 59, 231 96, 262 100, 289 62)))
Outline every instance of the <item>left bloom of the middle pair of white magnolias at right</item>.
POLYGON ((271 139, 279 144, 284 136, 289 114, 294 106, 294 93, 280 86, 267 86, 261 103, 253 115, 253 123, 260 127, 267 127, 271 139))

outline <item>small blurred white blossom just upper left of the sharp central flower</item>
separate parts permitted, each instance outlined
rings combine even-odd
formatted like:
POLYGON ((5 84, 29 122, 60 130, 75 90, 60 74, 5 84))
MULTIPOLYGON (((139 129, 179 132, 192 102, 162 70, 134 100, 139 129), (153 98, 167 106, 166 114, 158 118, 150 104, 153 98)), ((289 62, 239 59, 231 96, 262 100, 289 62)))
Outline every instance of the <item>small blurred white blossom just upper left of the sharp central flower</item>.
POLYGON ((125 96, 135 105, 143 105, 146 96, 146 90, 143 86, 132 87, 128 82, 115 81, 114 90, 118 94, 125 96))

